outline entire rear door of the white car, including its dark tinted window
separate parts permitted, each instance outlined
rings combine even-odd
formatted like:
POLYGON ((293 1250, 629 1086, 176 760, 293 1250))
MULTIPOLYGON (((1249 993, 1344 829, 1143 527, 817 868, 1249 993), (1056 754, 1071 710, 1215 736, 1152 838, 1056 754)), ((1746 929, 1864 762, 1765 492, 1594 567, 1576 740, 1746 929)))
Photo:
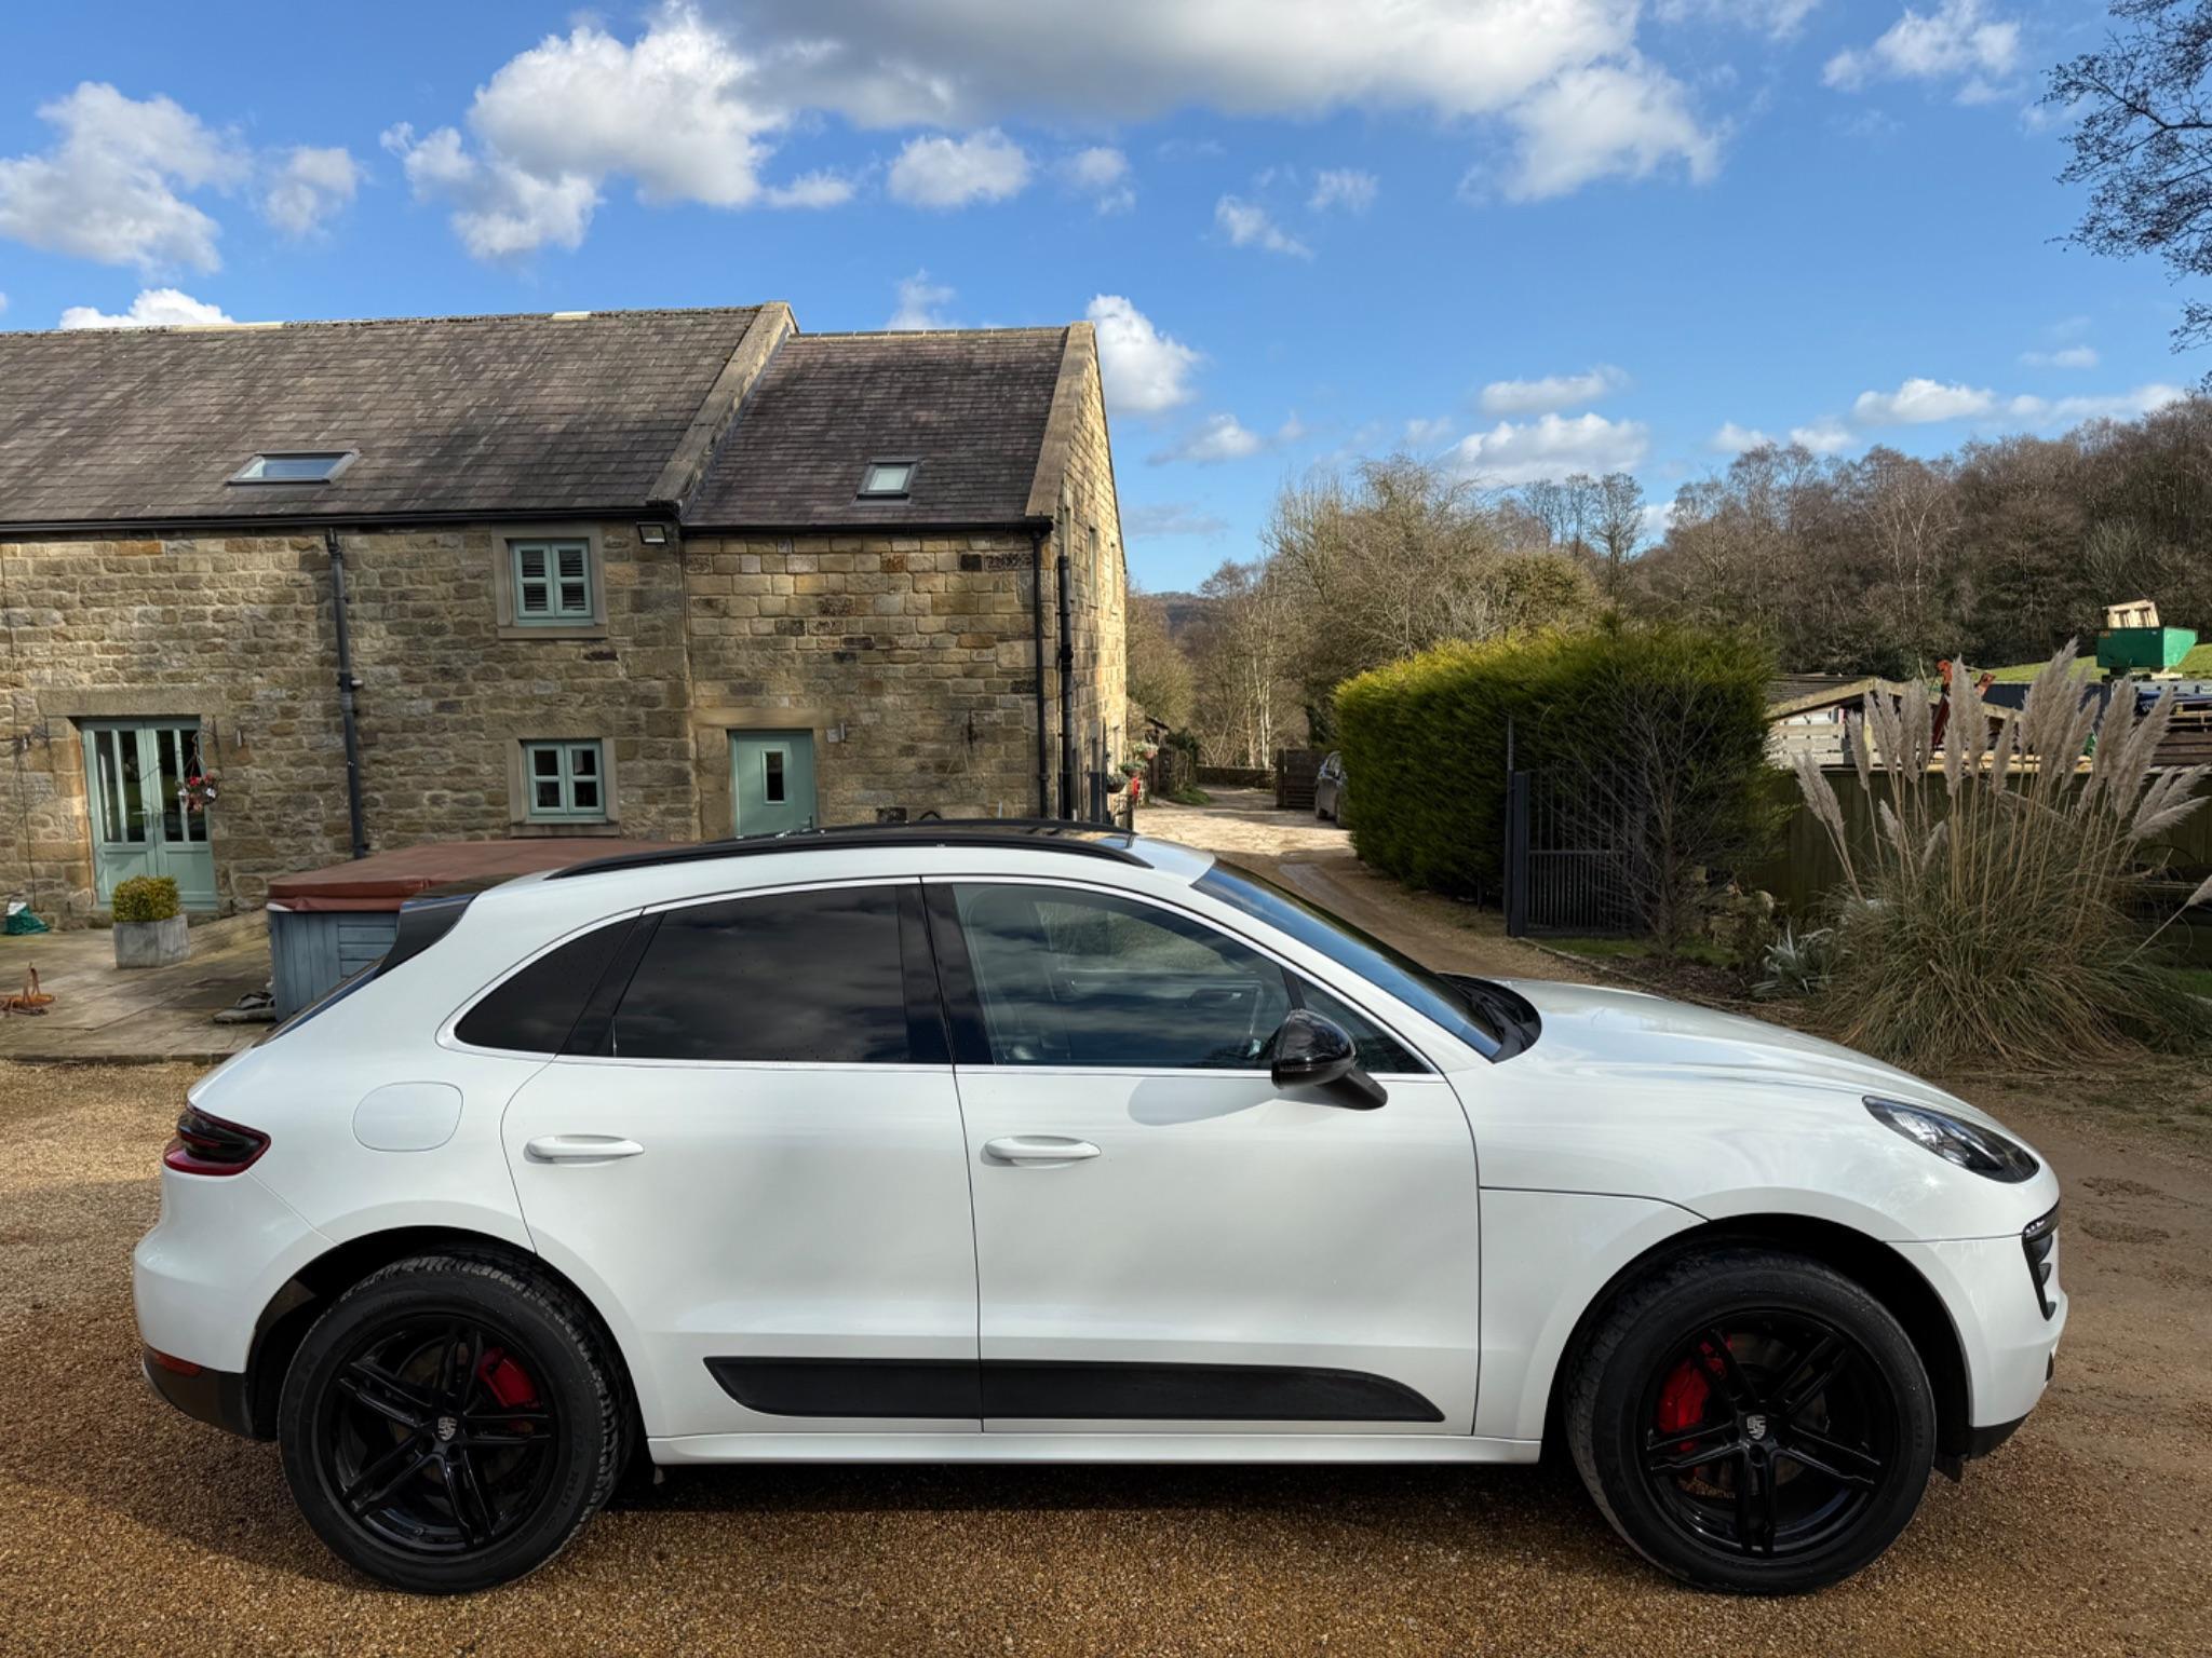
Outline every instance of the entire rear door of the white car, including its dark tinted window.
MULTIPOLYGON (((653 1435, 978 1433, 967 1141, 920 886, 684 904, 602 959, 502 1136, 538 1247, 630 1320, 653 1435), (945 1366, 958 1397, 927 1386, 945 1366)), ((462 1041, 502 1041, 473 1032, 507 993, 462 1041)))

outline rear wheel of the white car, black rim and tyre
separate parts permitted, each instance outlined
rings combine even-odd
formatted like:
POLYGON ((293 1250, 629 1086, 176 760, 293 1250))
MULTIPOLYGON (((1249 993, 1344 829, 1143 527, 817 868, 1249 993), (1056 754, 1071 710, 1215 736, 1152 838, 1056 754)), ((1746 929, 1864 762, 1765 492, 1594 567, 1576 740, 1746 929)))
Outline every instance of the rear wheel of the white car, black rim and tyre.
POLYGON ((276 1439, 332 1554, 398 1589, 465 1594, 560 1554, 615 1488, 626 1433, 573 1295, 498 1260, 414 1256, 307 1331, 276 1439))

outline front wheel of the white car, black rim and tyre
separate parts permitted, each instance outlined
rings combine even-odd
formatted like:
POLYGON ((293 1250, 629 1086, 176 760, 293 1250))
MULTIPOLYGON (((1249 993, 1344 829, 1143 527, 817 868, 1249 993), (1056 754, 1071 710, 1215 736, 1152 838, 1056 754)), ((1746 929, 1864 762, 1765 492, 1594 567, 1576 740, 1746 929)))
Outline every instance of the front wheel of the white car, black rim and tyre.
POLYGON ((1564 1426, 1644 1559, 1736 1594, 1858 1572, 1911 1521, 1936 1457, 1936 1395, 1896 1318, 1770 1249, 1686 1256, 1621 1293, 1582 1344, 1564 1426))

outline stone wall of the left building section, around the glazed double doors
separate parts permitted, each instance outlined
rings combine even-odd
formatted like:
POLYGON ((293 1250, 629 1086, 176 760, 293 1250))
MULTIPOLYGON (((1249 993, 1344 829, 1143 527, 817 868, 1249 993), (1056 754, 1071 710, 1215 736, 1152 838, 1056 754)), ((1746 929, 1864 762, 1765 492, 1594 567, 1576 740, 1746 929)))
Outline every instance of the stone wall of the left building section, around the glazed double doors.
MULTIPOLYGON (((560 526, 571 528, 571 526, 560 526)), ((513 526, 343 539, 363 816, 372 849, 518 831, 526 738, 599 738, 606 827, 695 825, 681 555, 588 526, 604 617, 502 628, 513 526)), ((49 917, 93 915, 86 718, 190 716, 217 780, 221 909, 347 856, 330 555, 316 535, 0 542, 0 884, 49 917)), ((546 833, 531 827, 531 833, 546 833)))

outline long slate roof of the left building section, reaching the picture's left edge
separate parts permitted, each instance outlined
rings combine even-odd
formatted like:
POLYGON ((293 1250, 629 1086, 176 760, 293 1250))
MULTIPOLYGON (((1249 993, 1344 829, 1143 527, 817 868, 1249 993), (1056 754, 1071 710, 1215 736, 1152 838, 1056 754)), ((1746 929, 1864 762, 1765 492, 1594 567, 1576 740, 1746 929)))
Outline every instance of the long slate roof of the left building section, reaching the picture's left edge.
POLYGON ((0 524, 644 506, 759 309, 0 334, 0 524))

